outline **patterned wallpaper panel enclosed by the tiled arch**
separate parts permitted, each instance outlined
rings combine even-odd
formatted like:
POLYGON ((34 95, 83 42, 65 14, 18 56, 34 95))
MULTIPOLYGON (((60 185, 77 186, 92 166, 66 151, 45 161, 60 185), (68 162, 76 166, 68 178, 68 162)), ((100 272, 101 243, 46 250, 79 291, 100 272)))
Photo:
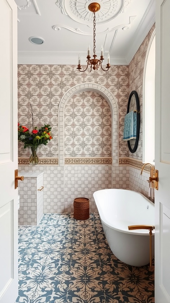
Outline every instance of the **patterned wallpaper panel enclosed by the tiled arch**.
POLYGON ((82 92, 64 110, 66 157, 111 157, 111 111, 96 92, 82 92))

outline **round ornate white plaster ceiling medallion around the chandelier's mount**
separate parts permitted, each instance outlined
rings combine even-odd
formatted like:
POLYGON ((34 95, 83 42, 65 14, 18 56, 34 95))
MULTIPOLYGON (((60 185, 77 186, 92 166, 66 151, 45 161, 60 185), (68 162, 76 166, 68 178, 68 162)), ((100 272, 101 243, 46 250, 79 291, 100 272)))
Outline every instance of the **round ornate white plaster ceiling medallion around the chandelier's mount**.
POLYGON ((62 13, 68 15, 74 21, 83 24, 93 24, 93 13, 89 11, 90 3, 100 4, 100 10, 96 12, 96 22, 98 24, 113 20, 121 12, 125 12, 132 0, 57 0, 56 5, 62 13))

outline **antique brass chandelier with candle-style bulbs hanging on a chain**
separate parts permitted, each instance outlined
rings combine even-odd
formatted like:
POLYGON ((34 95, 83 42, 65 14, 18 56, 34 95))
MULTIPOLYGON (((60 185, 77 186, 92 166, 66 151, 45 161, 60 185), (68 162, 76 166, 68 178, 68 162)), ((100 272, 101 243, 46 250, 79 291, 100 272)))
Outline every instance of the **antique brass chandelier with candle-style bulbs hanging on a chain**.
MULTIPOLYGON (((98 12, 100 10, 100 4, 97 3, 97 2, 93 2, 93 3, 90 3, 89 6, 88 6, 88 9, 90 10, 90 12, 93 12, 94 16, 93 16, 93 58, 94 59, 90 59, 90 45, 88 45, 87 47, 87 67, 84 71, 81 71, 81 65, 80 65, 80 54, 78 56, 78 67, 77 69, 79 70, 79 72, 85 72, 88 68, 88 66, 90 66, 90 72, 92 70, 92 68, 94 70, 97 70, 99 68, 99 66, 103 69, 102 67, 102 62, 104 60, 103 58, 103 45, 101 46, 101 56, 100 56, 100 59, 96 59, 97 55, 96 55, 96 16, 95 16, 95 13, 98 12)), ((108 69, 110 68, 110 55, 108 53, 108 56, 107 56, 107 66, 106 66, 107 69, 103 69, 103 71, 107 72, 108 69)))

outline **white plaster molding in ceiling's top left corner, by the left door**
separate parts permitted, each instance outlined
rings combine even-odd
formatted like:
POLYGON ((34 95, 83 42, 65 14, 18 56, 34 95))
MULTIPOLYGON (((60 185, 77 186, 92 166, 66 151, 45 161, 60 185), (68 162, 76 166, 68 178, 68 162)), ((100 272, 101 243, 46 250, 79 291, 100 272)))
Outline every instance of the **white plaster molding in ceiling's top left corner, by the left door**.
POLYGON ((15 3, 17 4, 18 8, 18 15, 38 14, 41 16, 36 0, 15 0, 15 3))

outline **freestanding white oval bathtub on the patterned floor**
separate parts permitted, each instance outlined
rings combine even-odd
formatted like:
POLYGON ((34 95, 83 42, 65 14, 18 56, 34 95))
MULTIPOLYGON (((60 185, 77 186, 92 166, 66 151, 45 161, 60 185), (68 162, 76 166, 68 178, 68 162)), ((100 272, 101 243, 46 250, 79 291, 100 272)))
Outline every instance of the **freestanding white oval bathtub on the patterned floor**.
POLYGON ((125 189, 103 189, 95 191, 93 197, 113 254, 129 265, 148 264, 149 230, 129 231, 128 225, 154 225, 154 204, 145 196, 125 189))

